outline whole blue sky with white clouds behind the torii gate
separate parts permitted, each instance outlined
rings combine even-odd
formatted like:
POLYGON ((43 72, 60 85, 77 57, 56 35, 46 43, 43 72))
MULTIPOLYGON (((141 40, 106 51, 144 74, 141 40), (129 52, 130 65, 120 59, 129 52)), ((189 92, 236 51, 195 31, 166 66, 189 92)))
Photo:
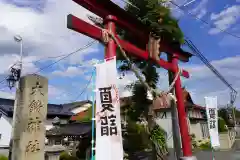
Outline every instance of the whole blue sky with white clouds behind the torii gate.
MULTIPOLYGON (((188 1, 175 0, 175 3, 183 5, 188 1)), ((124 5, 120 0, 114 2, 124 5)), ((59 59, 47 57, 68 54, 91 41, 90 38, 66 27, 67 14, 72 13, 88 22, 86 15, 92 14, 71 0, 0 0, 0 8, 0 80, 7 75, 9 66, 19 59, 19 44, 13 41, 16 34, 21 35, 24 40, 24 74, 34 73, 59 59), (39 62, 33 63, 36 60, 39 62)), ((196 0, 184 8, 185 12, 174 6, 171 8, 173 15, 179 19, 185 36, 188 36, 229 83, 240 91, 240 38, 216 29, 221 28, 240 37, 240 1, 196 0), (210 25, 196 20, 187 12, 210 25)), ((49 79, 49 102, 67 103, 76 100, 90 79, 92 65, 102 60, 103 54, 103 46, 96 43, 41 71, 40 74, 49 79)), ((218 96, 221 105, 228 103, 228 88, 197 57, 181 66, 191 74, 190 79, 182 80, 195 103, 204 105, 205 96, 218 96)), ((166 71, 159 69, 159 73, 159 88, 167 89, 166 71)), ((136 78, 132 73, 119 80, 122 95, 130 94, 124 86, 134 80, 136 78)), ((13 98, 14 90, 10 91, 4 86, 6 83, 0 84, 0 96, 13 98)), ((91 95, 91 88, 88 87, 77 100, 91 98, 91 95)), ((236 105, 240 107, 239 97, 236 105)))

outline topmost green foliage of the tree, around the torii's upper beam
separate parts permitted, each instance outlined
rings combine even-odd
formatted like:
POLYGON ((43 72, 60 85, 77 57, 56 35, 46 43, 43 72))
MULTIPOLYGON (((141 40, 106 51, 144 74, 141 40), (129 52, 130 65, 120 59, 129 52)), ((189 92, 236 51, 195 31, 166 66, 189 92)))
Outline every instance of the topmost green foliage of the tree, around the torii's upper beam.
MULTIPOLYGON (((169 8, 163 6, 163 0, 129 0, 132 5, 125 7, 131 15, 135 15, 142 23, 150 28, 151 33, 169 42, 184 42, 183 33, 178 26, 178 21, 171 16, 169 8)), ((140 44, 139 39, 129 33, 124 34, 124 39, 140 44)), ((145 47, 145 44, 142 44, 145 47)))

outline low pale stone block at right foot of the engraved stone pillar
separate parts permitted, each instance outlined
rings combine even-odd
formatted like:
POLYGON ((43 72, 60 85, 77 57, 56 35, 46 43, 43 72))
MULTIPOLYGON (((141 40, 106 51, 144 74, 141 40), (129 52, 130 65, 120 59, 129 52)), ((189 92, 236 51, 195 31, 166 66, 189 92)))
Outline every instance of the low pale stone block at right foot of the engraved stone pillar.
POLYGON ((45 147, 45 160, 59 160, 60 154, 65 151, 62 145, 53 145, 45 147))

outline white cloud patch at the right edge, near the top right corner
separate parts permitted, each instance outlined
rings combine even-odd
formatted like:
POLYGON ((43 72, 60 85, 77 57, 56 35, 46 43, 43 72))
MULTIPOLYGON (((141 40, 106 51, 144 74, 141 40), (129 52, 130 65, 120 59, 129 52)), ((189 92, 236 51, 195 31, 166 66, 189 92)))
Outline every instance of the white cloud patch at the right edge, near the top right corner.
POLYGON ((211 28, 209 34, 218 34, 221 30, 231 28, 240 18, 240 5, 233 5, 225 8, 220 13, 212 13, 211 20, 216 28, 211 28), (219 30, 219 29, 221 30, 219 30))

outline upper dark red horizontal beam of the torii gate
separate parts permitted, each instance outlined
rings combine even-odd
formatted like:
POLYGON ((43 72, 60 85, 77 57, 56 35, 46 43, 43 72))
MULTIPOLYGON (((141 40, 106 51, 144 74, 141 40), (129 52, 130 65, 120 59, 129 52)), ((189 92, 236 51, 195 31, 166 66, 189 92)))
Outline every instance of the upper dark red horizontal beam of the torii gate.
MULTIPOLYGON (((116 24, 121 26, 124 29, 127 29, 135 36, 139 37, 142 41, 148 43, 149 37, 149 28, 141 23, 136 17, 128 14, 121 7, 116 5, 110 0, 73 0, 77 4, 82 7, 88 9, 94 14, 106 18, 108 15, 113 15, 117 17, 114 20, 116 24)), ((161 47, 164 48, 165 51, 169 54, 177 54, 179 56, 179 60, 183 62, 188 62, 189 58, 192 54, 188 52, 184 52, 181 48, 173 49, 169 44, 161 43, 161 47)))

